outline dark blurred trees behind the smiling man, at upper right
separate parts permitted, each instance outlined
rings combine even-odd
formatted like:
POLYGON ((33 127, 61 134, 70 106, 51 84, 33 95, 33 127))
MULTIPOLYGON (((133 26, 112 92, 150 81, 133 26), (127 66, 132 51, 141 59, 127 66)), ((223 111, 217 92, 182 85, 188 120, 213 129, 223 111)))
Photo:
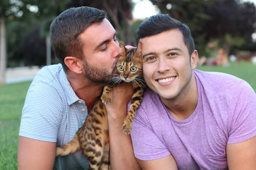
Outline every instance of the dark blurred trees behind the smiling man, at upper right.
POLYGON ((151 0, 162 13, 189 26, 195 46, 205 53, 205 44, 218 38, 229 53, 233 47, 251 42, 256 8, 239 0, 151 0), (171 7, 167 9, 168 6, 171 7), (239 40, 239 41, 236 41, 239 40), (232 43, 230 43, 232 41, 232 43), (234 42, 236 41, 236 42, 234 42), (243 42, 243 43, 242 43, 243 42))

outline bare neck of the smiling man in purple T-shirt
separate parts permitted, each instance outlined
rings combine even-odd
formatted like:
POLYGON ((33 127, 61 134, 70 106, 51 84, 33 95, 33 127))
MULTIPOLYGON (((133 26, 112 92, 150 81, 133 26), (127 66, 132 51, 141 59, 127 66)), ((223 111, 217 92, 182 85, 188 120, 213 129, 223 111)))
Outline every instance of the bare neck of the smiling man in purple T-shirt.
POLYGON ((177 121, 183 121, 191 116, 198 103, 198 88, 195 75, 192 74, 191 81, 181 91, 177 99, 162 99, 172 116, 177 121))

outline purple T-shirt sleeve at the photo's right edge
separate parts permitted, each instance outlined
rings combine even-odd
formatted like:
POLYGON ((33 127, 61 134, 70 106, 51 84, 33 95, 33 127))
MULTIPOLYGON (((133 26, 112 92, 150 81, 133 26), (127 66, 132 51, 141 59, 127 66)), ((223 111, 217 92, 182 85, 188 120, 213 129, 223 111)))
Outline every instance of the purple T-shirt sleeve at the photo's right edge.
POLYGON ((243 82, 241 90, 236 91, 233 96, 228 144, 243 142, 256 136, 255 91, 247 82, 243 82))

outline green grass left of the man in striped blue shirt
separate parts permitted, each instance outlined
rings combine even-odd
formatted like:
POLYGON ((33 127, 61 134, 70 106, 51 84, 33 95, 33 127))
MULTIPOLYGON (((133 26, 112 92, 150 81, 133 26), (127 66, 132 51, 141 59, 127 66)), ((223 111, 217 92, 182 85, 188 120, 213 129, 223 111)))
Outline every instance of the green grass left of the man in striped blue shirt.
POLYGON ((31 82, 0 85, 0 170, 17 170, 21 111, 31 82))

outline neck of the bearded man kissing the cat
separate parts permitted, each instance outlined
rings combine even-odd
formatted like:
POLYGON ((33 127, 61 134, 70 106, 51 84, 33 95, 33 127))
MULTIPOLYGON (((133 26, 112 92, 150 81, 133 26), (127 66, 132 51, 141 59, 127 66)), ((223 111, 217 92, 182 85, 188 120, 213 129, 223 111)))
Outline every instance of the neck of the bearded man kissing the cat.
POLYGON ((84 100, 88 112, 93 108, 93 105, 102 94, 102 89, 105 84, 94 83, 84 77, 82 74, 76 74, 72 71, 67 73, 67 79, 76 95, 84 100))

